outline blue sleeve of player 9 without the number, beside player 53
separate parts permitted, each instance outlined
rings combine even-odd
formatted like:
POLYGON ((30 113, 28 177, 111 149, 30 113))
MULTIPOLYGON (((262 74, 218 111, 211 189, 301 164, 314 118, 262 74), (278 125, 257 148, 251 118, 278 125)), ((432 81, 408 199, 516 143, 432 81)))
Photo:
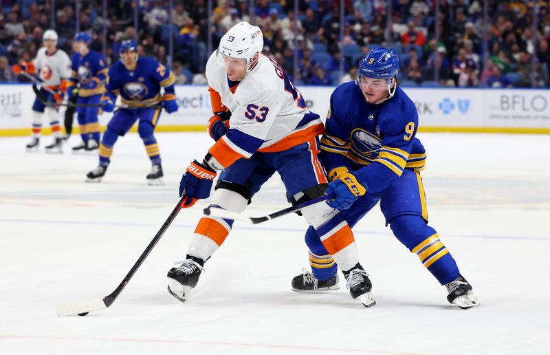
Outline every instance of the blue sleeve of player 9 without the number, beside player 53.
POLYGON ((331 95, 331 105, 325 122, 325 134, 321 138, 322 160, 325 162, 325 169, 331 171, 340 166, 346 166, 350 169, 347 159, 348 149, 350 147, 350 131, 344 124, 344 113, 338 111, 338 101, 335 93, 331 95))

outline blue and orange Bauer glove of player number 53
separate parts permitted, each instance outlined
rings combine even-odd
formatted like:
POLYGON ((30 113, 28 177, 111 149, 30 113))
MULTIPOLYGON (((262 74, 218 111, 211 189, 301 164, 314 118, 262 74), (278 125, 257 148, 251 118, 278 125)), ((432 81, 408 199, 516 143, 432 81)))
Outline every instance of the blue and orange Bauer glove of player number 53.
POLYGON ((210 196, 210 189, 216 175, 216 171, 210 169, 208 165, 193 160, 179 182, 179 196, 183 196, 184 191, 186 195, 181 208, 190 207, 197 200, 210 196))

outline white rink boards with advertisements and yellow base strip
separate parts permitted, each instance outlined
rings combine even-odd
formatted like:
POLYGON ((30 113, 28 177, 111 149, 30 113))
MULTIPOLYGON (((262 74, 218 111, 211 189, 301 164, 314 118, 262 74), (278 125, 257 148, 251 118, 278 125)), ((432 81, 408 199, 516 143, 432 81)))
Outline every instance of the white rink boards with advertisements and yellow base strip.
MULTIPOLYGON (((300 87, 311 111, 325 117, 334 87, 300 87)), ((421 131, 550 133, 547 89, 404 89, 419 111, 421 131)), ((202 131, 212 115, 206 86, 176 85, 179 111, 162 114, 157 131, 202 131)), ((31 85, 0 85, 0 136, 30 133, 31 85)), ((60 109, 63 121, 65 107, 60 109)), ((111 113, 100 115, 102 126, 111 113)), ((76 118, 75 127, 78 127, 76 118)), ((47 127, 47 122, 44 122, 47 127)), ((48 129, 45 129, 47 132, 48 129)))

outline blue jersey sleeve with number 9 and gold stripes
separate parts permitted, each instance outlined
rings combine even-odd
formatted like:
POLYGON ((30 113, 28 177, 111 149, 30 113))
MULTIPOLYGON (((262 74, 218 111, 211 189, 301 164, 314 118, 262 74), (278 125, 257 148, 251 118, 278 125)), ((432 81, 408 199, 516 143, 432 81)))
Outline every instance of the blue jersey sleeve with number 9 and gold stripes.
MULTIPOLYGON (((386 104, 387 105, 387 104, 386 104)), ((384 107, 384 120, 380 125, 383 133, 380 151, 372 164, 355 173, 368 186, 369 193, 380 192, 401 176, 407 163, 418 126, 418 114, 414 106, 405 111, 384 107)))

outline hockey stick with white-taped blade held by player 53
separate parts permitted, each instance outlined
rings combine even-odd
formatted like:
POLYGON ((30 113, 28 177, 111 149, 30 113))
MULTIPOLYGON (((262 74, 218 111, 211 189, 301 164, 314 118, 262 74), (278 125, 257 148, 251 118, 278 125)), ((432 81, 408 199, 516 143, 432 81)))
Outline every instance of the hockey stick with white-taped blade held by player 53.
POLYGON ((138 268, 142 265, 145 258, 149 255, 151 250, 155 248, 155 245, 159 241, 160 237, 166 232, 166 229, 168 229, 168 226, 173 222, 177 214, 179 213, 179 210, 181 210, 181 206, 184 204, 184 201, 186 199, 185 191, 183 197, 181 197, 181 200, 177 203, 177 206, 173 209, 172 213, 168 216, 168 219, 166 219, 166 222, 160 227, 159 231, 151 240, 147 248, 142 252, 142 255, 140 255, 139 259, 135 261, 132 268, 128 272, 128 274, 122 279, 122 282, 120 285, 118 285, 117 288, 111 294, 109 294, 106 297, 103 297, 102 299, 87 299, 83 301, 74 301, 74 302, 66 302, 61 303, 56 306, 56 314, 58 316, 74 316, 78 314, 79 316, 85 316, 88 314, 88 312, 95 311, 95 310, 102 310, 104 308, 109 307, 109 305, 113 304, 115 299, 120 295, 120 292, 124 290, 126 285, 129 283, 130 279, 133 277, 135 272, 138 268))

